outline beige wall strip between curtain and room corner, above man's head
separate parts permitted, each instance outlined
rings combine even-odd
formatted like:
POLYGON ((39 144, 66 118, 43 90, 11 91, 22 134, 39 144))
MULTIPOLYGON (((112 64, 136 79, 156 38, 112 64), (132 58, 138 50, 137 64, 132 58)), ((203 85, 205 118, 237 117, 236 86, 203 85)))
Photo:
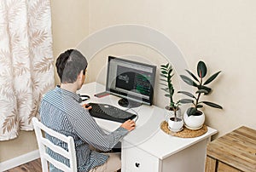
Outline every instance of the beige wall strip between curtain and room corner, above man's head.
MULTIPOLYGON (((88 0, 53 0, 53 53, 56 58, 67 49, 74 49, 88 35, 88 0)), ((59 77, 55 75, 56 83, 59 77)))

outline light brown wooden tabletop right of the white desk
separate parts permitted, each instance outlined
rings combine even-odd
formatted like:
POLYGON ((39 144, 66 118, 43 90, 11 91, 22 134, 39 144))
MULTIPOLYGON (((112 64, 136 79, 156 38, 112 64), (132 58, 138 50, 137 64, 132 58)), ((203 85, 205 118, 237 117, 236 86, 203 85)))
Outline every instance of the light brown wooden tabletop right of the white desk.
POLYGON ((207 155, 242 171, 256 170, 256 130, 235 129, 207 146, 207 155))

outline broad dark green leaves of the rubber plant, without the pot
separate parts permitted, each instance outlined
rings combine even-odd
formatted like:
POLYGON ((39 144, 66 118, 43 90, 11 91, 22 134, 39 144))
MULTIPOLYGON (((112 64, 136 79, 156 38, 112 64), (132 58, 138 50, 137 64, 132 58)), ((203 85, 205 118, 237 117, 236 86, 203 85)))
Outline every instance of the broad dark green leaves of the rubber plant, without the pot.
POLYGON ((195 95, 187 92, 187 91, 178 91, 177 93, 187 95, 189 96, 189 99, 182 99, 180 100, 180 103, 187 104, 192 103, 193 107, 190 107, 188 110, 188 116, 194 115, 198 116, 201 115, 201 112, 198 111, 199 108, 203 107, 203 105, 211 106, 218 109, 223 109, 222 106, 219 106, 216 103, 212 103, 210 101, 200 101, 201 95, 209 95, 212 92, 212 89, 207 86, 207 84, 212 83, 212 81, 218 77, 219 72, 214 73, 211 77, 208 77, 205 80, 205 77, 207 75, 207 66, 203 61, 199 61, 197 64, 197 77, 195 77, 195 74, 192 72, 189 72, 189 70, 186 70, 186 72, 189 73, 190 77, 180 75, 183 82, 188 83, 190 86, 195 87, 197 90, 195 91, 195 95), (193 79, 192 79, 192 78, 193 79))

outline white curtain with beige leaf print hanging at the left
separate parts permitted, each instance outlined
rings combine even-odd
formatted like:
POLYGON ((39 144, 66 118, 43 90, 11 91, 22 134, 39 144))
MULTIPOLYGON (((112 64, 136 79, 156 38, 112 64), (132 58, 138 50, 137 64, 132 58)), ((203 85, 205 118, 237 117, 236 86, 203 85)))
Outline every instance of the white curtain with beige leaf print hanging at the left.
POLYGON ((0 1, 0 140, 32 130, 54 87, 50 0, 0 1))

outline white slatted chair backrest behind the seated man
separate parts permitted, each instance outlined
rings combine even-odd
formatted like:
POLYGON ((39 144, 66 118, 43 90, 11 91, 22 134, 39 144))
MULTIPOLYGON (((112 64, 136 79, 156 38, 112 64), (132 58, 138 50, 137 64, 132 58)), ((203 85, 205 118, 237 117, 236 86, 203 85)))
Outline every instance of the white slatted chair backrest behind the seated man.
POLYGON ((61 135, 55 130, 49 129, 43 123, 40 123, 38 121, 38 118, 32 118, 32 123, 38 140, 38 148, 40 152, 43 172, 48 171, 48 162, 53 164, 57 169, 61 169, 62 171, 77 171, 77 159, 73 137, 61 135), (43 131, 48 135, 51 135, 59 140, 66 142, 68 151, 62 148, 61 146, 56 146, 50 140, 46 139, 43 135, 43 131), (61 163, 55 160, 54 158, 51 158, 49 154, 46 152, 46 147, 49 147, 52 151, 59 153, 61 156, 69 159, 70 167, 68 167, 65 163, 61 163))

